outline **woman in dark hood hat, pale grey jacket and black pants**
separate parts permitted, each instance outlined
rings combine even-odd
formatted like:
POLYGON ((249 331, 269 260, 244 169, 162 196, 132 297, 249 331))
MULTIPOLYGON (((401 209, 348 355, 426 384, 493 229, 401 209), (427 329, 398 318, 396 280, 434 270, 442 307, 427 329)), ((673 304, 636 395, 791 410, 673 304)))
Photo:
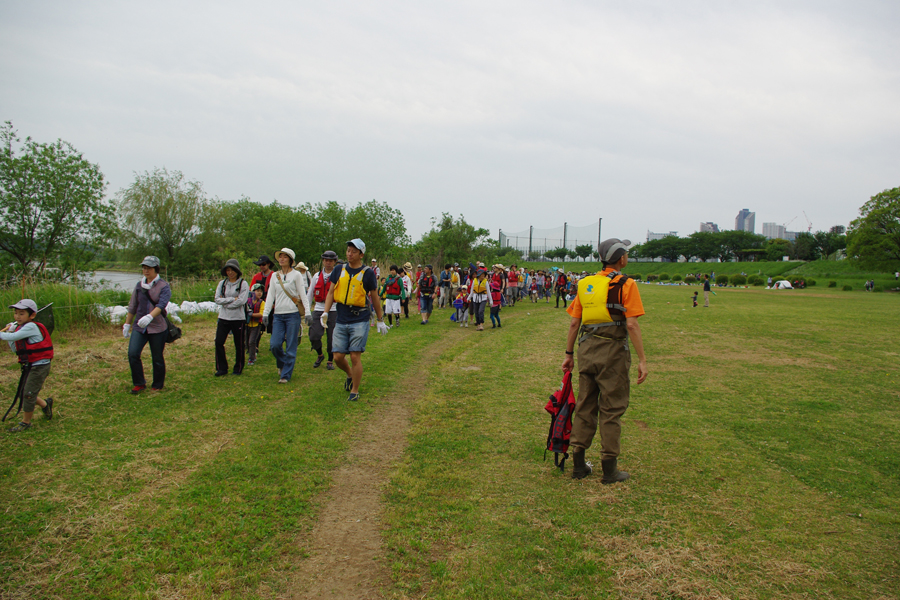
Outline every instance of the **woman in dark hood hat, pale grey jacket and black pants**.
POLYGON ((244 335, 247 325, 250 285, 242 277, 241 267, 236 258, 229 258, 222 267, 225 279, 216 286, 215 302, 219 305, 219 319, 216 321, 216 377, 228 375, 228 358, 225 355, 225 340, 228 334, 234 338, 235 375, 244 372, 244 335))

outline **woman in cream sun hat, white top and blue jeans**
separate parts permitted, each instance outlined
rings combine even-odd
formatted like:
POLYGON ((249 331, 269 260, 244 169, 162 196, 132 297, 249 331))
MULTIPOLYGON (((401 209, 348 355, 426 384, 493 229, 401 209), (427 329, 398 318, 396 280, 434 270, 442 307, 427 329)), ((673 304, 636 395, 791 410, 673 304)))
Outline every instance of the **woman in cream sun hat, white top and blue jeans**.
POLYGON ((294 374, 297 361, 297 343, 300 340, 301 314, 309 312, 306 297, 306 279, 295 271, 294 251, 282 248, 275 253, 280 269, 272 277, 266 296, 265 321, 272 314, 272 338, 269 349, 278 367, 278 383, 288 383, 294 374))

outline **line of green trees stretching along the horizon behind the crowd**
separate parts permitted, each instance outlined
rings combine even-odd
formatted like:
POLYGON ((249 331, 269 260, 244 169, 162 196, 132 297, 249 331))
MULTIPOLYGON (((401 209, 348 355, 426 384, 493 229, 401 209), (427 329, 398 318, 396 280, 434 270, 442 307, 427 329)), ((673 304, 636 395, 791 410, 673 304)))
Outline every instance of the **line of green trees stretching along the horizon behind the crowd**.
MULTIPOLYGON (((48 272, 68 278, 103 263, 134 263, 159 256, 170 274, 217 272, 228 258, 248 264, 261 254, 291 247, 298 260, 314 264, 324 249, 340 250, 360 237, 367 255, 419 262, 516 262, 522 253, 501 248, 487 229, 462 215, 443 213, 412 242, 400 210, 370 200, 355 206, 335 201, 290 206, 250 198, 210 198, 198 181, 179 171, 155 168, 106 196, 99 165, 69 142, 24 142, 11 122, 0 127, 0 275, 48 272)), ((900 187, 863 204, 844 235, 800 233, 793 241, 767 240, 745 231, 668 236, 634 246, 633 258, 727 260, 815 260, 845 249, 865 263, 897 268, 900 263, 900 187)), ((596 258, 594 248, 556 248, 528 258, 596 258)))

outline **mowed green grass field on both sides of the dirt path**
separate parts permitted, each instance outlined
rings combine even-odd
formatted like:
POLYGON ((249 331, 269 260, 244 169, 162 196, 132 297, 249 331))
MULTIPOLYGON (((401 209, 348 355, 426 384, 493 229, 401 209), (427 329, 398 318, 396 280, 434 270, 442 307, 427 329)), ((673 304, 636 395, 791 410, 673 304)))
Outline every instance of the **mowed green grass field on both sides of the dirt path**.
POLYGON ((0 597, 279 597, 349 433, 400 389, 418 392, 383 457, 386 597, 900 597, 900 297, 727 289, 693 309, 695 289, 640 287, 650 377, 614 486, 544 460, 552 304, 373 336, 358 404, 305 339, 290 386, 266 354, 216 379, 214 320, 194 319, 168 389, 132 397, 116 328, 62 336, 58 416, 2 440, 0 597))

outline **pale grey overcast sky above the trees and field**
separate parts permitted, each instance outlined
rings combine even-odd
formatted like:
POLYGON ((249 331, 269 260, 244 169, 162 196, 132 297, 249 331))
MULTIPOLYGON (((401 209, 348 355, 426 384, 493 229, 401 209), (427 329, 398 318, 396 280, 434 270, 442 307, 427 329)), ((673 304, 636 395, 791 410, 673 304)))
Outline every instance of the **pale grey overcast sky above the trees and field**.
POLYGON ((900 186, 900 3, 0 2, 0 120, 210 196, 603 237, 900 186))

